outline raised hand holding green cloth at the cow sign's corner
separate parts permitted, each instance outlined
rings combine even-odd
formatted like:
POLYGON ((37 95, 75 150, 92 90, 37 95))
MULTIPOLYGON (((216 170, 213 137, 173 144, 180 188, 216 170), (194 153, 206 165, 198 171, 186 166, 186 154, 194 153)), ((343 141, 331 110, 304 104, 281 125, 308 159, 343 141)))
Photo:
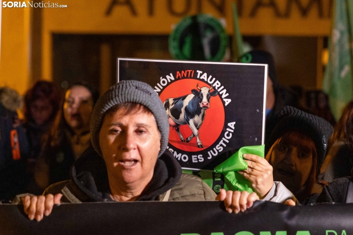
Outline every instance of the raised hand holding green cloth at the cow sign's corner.
POLYGON ((251 182, 253 189, 260 198, 264 198, 273 186, 272 166, 263 157, 253 154, 244 154, 248 169, 238 171, 251 182))

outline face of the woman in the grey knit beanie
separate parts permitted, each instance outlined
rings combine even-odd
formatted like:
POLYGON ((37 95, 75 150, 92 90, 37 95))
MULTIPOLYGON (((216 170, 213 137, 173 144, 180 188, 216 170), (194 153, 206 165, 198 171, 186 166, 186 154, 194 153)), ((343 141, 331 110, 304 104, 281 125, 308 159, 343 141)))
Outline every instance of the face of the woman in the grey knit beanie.
POLYGON ((143 188, 152 179, 161 147, 156 120, 151 113, 124 108, 106 115, 99 131, 99 146, 109 181, 143 188))

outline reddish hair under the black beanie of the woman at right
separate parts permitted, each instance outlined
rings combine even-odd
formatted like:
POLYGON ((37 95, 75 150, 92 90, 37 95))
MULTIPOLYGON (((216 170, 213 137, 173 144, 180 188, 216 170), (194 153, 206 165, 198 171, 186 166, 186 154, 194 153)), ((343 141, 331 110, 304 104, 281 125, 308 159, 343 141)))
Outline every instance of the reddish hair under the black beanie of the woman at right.
POLYGON ((277 145, 286 144, 292 146, 301 146, 307 148, 311 152, 312 156, 312 166, 310 170, 309 177, 304 184, 304 190, 300 193, 292 192, 295 196, 299 199, 299 201, 307 198, 311 194, 312 187, 316 180, 316 174, 318 172, 317 169, 317 154, 314 142, 310 139, 309 136, 300 133, 300 132, 286 132, 283 136, 278 138, 273 145, 271 146, 270 150, 268 151, 265 159, 271 164, 272 162, 272 151, 277 147, 277 145))

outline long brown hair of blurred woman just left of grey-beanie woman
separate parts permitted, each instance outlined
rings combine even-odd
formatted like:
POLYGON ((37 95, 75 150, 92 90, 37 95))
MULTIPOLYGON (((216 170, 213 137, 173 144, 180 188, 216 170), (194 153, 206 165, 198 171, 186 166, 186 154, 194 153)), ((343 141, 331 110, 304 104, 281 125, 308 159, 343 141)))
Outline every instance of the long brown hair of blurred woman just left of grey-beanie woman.
MULTIPOLYGON (((65 91, 64 94, 66 94, 66 92, 74 86, 84 86, 89 90, 92 96, 92 102, 93 102, 92 107, 94 107, 94 104, 97 102, 99 98, 99 93, 97 92, 97 90, 95 90, 92 86, 90 86, 85 81, 78 81, 73 83, 72 86, 70 86, 65 91)), ((61 106, 58 113, 56 114, 53 125, 51 126, 49 132, 44 137, 45 142, 49 142, 48 144, 50 144, 51 147, 59 145, 61 138, 63 136, 64 130, 72 131, 71 127, 66 123, 64 118, 64 111, 63 111, 64 102, 65 102, 65 96, 63 96, 61 99, 61 102, 60 102, 61 106)))

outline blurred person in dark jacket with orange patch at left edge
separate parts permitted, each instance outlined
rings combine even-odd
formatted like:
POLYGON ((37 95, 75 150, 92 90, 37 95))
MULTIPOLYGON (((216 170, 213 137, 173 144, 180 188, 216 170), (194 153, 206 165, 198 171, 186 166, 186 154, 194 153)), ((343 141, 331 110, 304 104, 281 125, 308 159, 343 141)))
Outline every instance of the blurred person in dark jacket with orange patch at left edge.
POLYGON ((29 181, 29 145, 16 112, 21 106, 22 98, 17 91, 0 87, 0 200, 26 192, 29 181))

